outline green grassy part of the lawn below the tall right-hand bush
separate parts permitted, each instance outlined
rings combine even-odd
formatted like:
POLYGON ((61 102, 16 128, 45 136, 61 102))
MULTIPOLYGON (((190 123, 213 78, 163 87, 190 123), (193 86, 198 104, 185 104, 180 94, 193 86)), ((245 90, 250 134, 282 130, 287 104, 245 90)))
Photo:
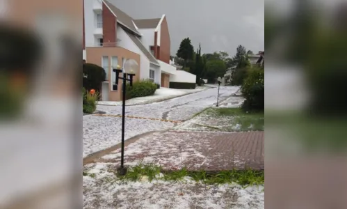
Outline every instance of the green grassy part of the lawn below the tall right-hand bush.
MULTIPOLYGON (((257 131, 264 130, 264 111, 245 112, 240 108, 211 108, 204 111, 204 116, 208 118, 229 119, 229 126, 223 131, 257 131)), ((209 125, 206 125, 209 127, 209 125)))

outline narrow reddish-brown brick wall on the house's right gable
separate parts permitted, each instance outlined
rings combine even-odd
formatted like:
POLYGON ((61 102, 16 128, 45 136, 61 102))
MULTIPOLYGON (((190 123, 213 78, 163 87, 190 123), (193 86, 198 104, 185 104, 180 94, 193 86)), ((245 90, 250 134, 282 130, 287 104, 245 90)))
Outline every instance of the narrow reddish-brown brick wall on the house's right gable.
POLYGON ((160 40, 159 59, 163 62, 170 63, 171 40, 166 17, 164 17, 161 22, 160 33, 158 31, 158 38, 160 40))

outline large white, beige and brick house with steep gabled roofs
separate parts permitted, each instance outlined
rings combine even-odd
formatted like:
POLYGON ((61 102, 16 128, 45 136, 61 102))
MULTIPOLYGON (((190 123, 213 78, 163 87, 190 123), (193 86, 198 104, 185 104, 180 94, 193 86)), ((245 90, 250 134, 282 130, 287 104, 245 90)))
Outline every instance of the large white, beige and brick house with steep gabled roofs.
POLYGON ((106 101, 122 100, 113 68, 123 66, 127 59, 139 65, 135 81, 150 79, 166 88, 195 84, 195 75, 184 75, 170 65, 166 15, 135 20, 107 0, 83 0, 83 59, 104 68, 107 79, 102 84, 102 100, 106 101))

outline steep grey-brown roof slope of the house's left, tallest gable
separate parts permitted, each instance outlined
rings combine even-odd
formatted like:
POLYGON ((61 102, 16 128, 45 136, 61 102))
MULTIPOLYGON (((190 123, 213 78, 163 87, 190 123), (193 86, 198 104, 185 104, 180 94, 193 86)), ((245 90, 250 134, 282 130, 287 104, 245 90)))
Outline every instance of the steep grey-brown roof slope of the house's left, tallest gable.
POLYGON ((134 33, 136 33, 136 35, 141 36, 141 33, 138 32, 138 30, 134 26, 134 19, 132 17, 130 17, 129 15, 124 13, 119 8, 115 7, 113 5, 113 3, 110 3, 109 1, 106 1, 106 0, 103 0, 103 1, 106 4, 106 6, 111 10, 113 15, 115 15, 115 17, 117 17, 117 22, 119 24, 121 24, 122 26, 125 26, 127 29, 133 31, 134 33))

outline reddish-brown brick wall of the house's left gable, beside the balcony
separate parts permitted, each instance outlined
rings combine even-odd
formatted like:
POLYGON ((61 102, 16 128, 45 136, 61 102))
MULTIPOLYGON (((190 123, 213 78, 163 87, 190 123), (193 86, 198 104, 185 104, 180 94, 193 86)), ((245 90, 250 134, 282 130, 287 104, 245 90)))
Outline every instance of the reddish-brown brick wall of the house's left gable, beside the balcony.
POLYGON ((104 47, 115 47, 117 42, 117 18, 105 3, 102 3, 102 32, 104 47))

